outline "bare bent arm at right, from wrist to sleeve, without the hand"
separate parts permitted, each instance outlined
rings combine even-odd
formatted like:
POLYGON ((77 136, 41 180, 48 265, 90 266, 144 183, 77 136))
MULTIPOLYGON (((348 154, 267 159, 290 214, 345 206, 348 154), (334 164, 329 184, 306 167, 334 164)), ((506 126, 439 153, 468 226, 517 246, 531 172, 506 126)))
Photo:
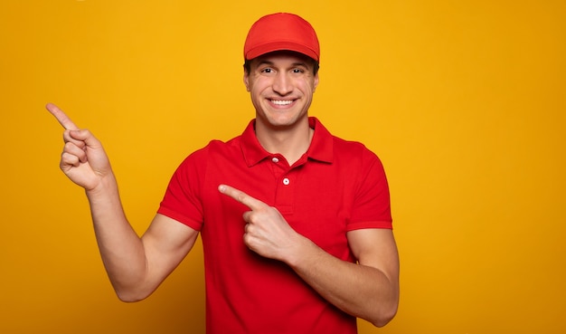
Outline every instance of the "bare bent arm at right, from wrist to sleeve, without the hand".
POLYGON ((358 263, 345 262, 305 238, 288 265, 327 301, 373 325, 386 325, 399 303, 399 256, 389 229, 348 232, 358 263))

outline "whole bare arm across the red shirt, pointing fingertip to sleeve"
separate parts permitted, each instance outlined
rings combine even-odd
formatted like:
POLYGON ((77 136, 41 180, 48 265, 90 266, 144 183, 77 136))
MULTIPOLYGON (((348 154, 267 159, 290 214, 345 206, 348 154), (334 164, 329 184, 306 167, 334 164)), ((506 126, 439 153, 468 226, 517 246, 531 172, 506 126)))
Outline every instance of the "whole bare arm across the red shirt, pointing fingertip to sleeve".
POLYGON ((289 226, 278 210, 231 186, 220 186, 250 208, 244 243, 259 255, 287 263, 325 300, 373 325, 386 325, 399 302, 399 256, 389 229, 348 232, 350 248, 358 263, 345 262, 326 253, 289 226))

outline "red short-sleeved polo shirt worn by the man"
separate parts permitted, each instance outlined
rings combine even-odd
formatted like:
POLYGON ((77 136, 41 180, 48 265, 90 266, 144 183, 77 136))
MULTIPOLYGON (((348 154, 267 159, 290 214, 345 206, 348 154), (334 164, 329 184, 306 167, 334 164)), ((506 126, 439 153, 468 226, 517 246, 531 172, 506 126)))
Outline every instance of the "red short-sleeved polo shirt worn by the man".
POLYGON ((391 228, 379 158, 332 136, 315 118, 307 153, 293 166, 259 145, 254 121, 239 137, 213 140, 177 168, 158 213, 201 232, 208 333, 355 333, 355 318, 322 299, 282 262, 243 243, 249 209, 219 193, 234 186, 278 208, 299 234, 355 262, 346 232, 391 228))

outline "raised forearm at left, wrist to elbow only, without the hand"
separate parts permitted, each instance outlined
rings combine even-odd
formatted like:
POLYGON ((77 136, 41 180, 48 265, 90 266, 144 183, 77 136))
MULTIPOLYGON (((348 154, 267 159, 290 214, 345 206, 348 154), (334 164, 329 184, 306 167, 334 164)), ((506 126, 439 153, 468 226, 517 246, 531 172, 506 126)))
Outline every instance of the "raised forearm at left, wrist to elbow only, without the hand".
POLYGON ((114 176, 104 177, 99 186, 86 193, 100 256, 118 298, 145 298, 148 292, 139 291, 146 277, 144 246, 127 222, 114 176))

